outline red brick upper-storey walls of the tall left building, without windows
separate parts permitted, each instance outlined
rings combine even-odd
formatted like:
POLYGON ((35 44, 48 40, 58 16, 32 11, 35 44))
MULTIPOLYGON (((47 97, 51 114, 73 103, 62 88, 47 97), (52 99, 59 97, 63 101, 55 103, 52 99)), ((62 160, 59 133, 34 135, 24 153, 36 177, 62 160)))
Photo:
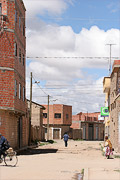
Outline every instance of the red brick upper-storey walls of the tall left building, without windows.
POLYGON ((25 112, 23 101, 23 87, 25 87, 25 57, 26 39, 23 35, 25 30, 25 9, 21 0, 3 1, 2 14, 7 16, 6 30, 0 34, 0 106, 15 108, 25 112), (17 22, 15 22, 17 12, 17 22), (21 19, 19 23, 19 18, 21 19), (19 26, 21 24, 21 26, 19 26), (17 56, 15 56, 15 42, 17 43, 17 56), (21 61, 19 60, 21 49, 21 61), (24 64, 23 64, 24 59, 24 64), (15 97, 15 80, 17 81, 17 96, 15 97), (19 99, 19 84, 21 84, 21 99, 19 99), (10 102, 10 103, 9 103, 10 102))

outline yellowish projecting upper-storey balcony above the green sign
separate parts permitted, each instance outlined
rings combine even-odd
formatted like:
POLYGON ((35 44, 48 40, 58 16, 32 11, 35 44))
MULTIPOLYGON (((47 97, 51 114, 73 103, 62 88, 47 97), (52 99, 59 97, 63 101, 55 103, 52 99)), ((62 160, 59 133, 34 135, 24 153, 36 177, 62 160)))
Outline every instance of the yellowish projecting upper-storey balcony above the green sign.
POLYGON ((108 93, 110 91, 110 77, 104 77, 103 79, 103 92, 108 93))

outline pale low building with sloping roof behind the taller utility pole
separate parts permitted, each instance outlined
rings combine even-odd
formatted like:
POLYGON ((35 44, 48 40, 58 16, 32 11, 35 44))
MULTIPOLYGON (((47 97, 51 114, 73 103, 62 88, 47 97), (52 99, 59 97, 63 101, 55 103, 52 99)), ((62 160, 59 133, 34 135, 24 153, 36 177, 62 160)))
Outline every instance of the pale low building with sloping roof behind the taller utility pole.
MULTIPOLYGON (((28 102, 28 108, 30 108, 30 101, 28 102)), ((43 110, 45 107, 32 101, 32 113, 31 113, 31 141, 42 141, 45 139, 45 128, 43 127, 43 110)))

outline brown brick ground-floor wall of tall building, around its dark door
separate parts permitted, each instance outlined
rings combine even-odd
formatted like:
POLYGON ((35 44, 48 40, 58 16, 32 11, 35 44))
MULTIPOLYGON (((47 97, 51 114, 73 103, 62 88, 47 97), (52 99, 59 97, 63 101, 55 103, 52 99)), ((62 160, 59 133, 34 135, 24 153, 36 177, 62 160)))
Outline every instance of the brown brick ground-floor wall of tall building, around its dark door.
MULTIPOLYGON (((10 145, 18 149, 18 119, 19 116, 15 115, 11 111, 0 110, 0 133, 7 138, 10 145)), ((29 129, 28 118, 22 117, 22 147, 28 145, 29 129)))

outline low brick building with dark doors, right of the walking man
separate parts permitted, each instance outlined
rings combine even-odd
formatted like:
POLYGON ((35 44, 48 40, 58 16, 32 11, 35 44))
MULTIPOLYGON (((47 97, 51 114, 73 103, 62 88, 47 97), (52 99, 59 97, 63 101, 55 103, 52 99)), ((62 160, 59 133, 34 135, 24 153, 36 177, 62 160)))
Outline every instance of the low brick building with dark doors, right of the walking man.
POLYGON ((99 120, 100 113, 78 113, 72 116, 73 129, 83 129, 83 139, 103 140, 104 139, 104 120, 99 120))

